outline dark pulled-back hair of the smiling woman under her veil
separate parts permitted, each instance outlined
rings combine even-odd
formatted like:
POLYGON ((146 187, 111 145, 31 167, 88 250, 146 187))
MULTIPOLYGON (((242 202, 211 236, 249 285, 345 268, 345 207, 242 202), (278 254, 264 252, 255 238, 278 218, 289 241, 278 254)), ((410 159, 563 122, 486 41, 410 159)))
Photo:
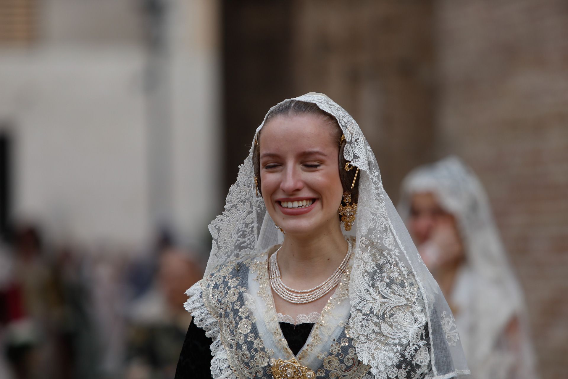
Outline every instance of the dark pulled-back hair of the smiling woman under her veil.
MULTIPOLYGON (((345 148, 346 141, 345 139, 341 139, 343 132, 341 131, 339 123, 337 123, 337 119, 334 116, 324 110, 321 110, 320 107, 318 107, 314 103, 292 99, 290 101, 282 102, 271 109, 266 115, 264 124, 268 124, 270 120, 277 116, 297 116, 303 114, 318 115, 323 117, 329 122, 329 124, 335 131, 335 138, 337 140, 337 145, 339 145, 339 177, 341 179, 341 185, 343 185, 344 192, 349 192, 351 194, 351 201, 356 203, 359 197, 358 176, 353 189, 351 188, 351 185, 353 184, 353 179, 355 178, 357 169, 353 168, 349 171, 345 170, 345 164, 349 163, 349 161, 346 160, 343 156, 343 149, 345 148)), ((260 147, 258 146, 258 139, 260 139, 261 132, 262 129, 258 132, 257 138, 254 140, 252 162, 254 166, 254 176, 256 176, 258 182, 258 193, 262 195, 260 186, 260 147)))

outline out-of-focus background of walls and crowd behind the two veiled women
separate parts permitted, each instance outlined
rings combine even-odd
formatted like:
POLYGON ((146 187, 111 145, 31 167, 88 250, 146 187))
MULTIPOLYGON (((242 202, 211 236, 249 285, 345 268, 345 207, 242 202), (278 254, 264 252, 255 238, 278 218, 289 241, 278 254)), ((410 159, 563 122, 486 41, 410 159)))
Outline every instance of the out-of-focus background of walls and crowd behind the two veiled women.
POLYGON ((0 0, 0 378, 173 377, 207 224, 308 91, 395 202, 416 165, 473 167, 562 377, 568 2, 0 0))

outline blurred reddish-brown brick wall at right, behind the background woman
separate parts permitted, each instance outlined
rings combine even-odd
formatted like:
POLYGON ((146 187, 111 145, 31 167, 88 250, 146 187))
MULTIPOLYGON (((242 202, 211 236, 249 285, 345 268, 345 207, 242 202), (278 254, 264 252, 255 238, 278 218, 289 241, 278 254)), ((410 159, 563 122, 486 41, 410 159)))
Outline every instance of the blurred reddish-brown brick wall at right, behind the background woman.
POLYGON ((435 17, 437 152, 458 153, 485 184, 525 290, 541 377, 563 377, 568 2, 442 0, 435 17))

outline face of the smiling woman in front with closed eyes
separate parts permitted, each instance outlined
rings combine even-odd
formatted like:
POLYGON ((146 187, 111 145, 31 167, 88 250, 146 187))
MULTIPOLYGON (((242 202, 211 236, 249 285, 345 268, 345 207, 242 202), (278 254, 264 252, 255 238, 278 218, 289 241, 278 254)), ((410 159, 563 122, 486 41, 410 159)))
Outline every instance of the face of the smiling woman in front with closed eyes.
POLYGON ((266 210, 286 234, 339 228, 339 145, 319 115, 277 116, 262 127, 260 177, 266 210))

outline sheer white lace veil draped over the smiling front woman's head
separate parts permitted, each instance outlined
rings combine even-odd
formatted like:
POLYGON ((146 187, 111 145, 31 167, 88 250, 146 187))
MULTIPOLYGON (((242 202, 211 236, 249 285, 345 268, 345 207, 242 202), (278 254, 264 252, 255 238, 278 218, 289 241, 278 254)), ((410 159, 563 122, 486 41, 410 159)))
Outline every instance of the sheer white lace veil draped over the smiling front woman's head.
MULTIPOLYGON (((371 365, 375 377, 386 379, 389 366, 404 355, 414 355, 408 347, 422 342, 419 334, 428 323, 431 350, 422 349, 414 359, 430 359, 434 378, 469 373, 452 312, 385 193, 377 160, 358 124, 323 94, 295 99, 315 103, 337 119, 346 139, 345 159, 360 169, 357 220, 350 232, 344 231, 346 236, 356 236, 349 333, 356 341, 358 358, 371 365)), ((251 143, 223 214, 209 225, 213 243, 206 275, 221 264, 255 256, 281 241, 254 190, 253 148, 251 143)))

